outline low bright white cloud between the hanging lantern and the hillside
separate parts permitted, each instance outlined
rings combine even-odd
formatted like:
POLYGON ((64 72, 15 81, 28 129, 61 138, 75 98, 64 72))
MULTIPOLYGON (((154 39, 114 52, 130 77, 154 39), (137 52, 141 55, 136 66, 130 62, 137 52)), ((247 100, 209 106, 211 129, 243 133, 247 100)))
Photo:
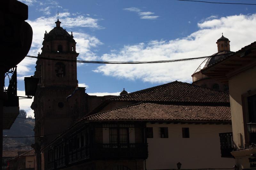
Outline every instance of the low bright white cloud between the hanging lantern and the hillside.
MULTIPOLYGON (((25 91, 17 90, 17 95, 18 96, 26 96, 25 91)), ((34 98, 34 97, 33 97, 34 98)), ((19 100, 19 105, 20 105, 20 110, 25 110, 27 112, 27 117, 32 116, 34 117, 34 111, 30 108, 32 102, 32 99, 21 99, 19 100)))

